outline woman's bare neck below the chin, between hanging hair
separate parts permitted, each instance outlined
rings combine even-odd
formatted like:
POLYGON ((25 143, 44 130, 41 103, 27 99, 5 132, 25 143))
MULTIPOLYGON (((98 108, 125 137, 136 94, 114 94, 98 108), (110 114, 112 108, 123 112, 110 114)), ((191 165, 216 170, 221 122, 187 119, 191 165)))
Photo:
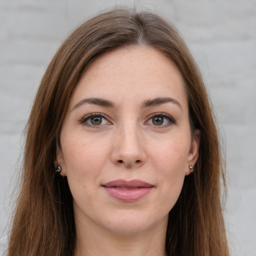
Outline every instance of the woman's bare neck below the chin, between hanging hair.
POLYGON ((122 255, 166 256, 166 221, 136 234, 119 234, 88 223, 76 223, 74 256, 122 255))

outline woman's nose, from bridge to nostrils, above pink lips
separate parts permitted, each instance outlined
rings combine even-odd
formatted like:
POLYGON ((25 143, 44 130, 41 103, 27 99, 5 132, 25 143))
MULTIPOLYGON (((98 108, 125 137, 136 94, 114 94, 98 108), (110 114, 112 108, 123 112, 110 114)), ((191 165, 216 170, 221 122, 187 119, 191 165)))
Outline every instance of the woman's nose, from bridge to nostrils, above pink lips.
POLYGON ((122 126, 113 138, 111 161, 127 168, 139 167, 145 163, 146 154, 142 136, 136 125, 122 126))

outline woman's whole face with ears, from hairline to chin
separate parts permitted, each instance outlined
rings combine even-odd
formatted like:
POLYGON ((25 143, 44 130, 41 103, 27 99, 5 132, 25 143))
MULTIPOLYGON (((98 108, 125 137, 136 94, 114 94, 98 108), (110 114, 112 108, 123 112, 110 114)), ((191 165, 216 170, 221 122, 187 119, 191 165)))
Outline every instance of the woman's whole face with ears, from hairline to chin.
POLYGON ((76 224, 131 234, 166 228, 198 154, 175 65, 146 46, 100 55, 72 92, 56 164, 76 224))

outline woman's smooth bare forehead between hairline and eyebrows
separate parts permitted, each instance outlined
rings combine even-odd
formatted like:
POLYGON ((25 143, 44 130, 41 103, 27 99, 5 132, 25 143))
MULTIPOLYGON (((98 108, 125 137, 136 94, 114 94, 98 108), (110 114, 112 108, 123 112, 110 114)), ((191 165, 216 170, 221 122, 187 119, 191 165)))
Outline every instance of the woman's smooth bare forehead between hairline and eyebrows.
POLYGON ((122 103, 171 96, 186 105, 182 77, 160 51, 147 46, 118 48, 97 57, 85 70, 71 95, 71 104, 83 97, 102 97, 122 103))

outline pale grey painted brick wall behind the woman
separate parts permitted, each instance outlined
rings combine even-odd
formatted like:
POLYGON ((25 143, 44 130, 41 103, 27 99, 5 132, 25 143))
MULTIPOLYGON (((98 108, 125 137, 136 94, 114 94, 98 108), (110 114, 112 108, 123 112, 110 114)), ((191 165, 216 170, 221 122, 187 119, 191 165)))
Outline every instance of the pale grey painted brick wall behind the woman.
POLYGON ((0 0, 0 252, 19 171, 21 133, 40 78, 70 30, 115 4, 156 10, 184 35, 202 70, 223 135, 231 254, 255 256, 255 0, 0 0))

